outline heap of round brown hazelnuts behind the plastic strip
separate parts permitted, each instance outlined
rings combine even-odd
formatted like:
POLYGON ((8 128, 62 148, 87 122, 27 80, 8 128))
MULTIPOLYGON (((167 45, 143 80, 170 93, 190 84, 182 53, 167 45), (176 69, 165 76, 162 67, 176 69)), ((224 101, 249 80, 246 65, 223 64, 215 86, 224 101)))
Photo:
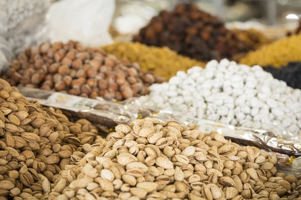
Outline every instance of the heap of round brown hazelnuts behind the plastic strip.
POLYGON ((13 60, 4 76, 11 85, 41 87, 74 95, 111 100, 145 95, 148 86, 163 80, 144 73, 137 64, 119 61, 79 42, 44 42, 13 60))

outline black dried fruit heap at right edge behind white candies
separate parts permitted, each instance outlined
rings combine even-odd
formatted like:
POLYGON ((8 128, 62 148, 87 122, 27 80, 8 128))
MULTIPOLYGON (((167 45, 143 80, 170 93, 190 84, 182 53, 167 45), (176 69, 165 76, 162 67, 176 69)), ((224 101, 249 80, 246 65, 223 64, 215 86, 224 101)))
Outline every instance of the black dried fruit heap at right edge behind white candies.
POLYGON ((288 86, 301 89, 301 62, 289 62, 280 68, 267 66, 263 69, 270 72, 274 78, 285 81, 288 86))

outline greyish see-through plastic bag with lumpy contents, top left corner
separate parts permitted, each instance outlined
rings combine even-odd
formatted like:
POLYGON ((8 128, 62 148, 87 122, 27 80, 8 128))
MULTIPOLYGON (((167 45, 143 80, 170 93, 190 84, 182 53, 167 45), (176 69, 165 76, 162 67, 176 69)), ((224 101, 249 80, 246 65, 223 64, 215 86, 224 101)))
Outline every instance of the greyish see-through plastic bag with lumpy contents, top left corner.
POLYGON ((0 0, 0 72, 31 45, 46 40, 50 0, 0 0))

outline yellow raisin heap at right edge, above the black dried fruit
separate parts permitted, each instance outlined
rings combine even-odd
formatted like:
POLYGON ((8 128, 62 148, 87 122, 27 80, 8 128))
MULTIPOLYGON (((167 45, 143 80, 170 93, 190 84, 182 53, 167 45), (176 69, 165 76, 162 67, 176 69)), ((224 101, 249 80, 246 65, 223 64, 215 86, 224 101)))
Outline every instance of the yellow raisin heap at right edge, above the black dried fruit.
POLYGON ((281 67, 292 61, 301 61, 301 34, 291 35, 264 45, 258 50, 249 52, 240 59, 247 65, 281 67))

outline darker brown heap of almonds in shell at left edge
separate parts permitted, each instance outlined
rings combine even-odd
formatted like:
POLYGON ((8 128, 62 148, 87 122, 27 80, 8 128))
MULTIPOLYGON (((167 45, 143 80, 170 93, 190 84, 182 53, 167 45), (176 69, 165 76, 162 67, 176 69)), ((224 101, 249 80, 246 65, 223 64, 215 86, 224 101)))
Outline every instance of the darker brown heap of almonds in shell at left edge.
POLYGON ((103 141, 89 121, 30 103, 3 79, 0 101, 0 199, 41 198, 55 174, 103 141))

